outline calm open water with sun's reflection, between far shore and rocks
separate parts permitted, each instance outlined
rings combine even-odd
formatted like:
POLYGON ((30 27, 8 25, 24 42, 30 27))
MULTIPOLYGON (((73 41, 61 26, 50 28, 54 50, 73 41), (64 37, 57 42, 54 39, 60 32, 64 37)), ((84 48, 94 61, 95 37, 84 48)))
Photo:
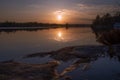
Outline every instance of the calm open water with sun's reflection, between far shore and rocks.
POLYGON ((57 50, 66 46, 96 45, 90 28, 56 28, 0 33, 0 60, 57 50))

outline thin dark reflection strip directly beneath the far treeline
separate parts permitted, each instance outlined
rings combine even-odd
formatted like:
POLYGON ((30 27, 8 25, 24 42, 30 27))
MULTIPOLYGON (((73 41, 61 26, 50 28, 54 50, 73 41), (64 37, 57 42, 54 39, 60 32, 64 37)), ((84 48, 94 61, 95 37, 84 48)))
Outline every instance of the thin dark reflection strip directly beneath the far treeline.
POLYGON ((56 28, 90 28, 90 26, 46 26, 46 27, 0 27, 0 32, 16 32, 16 31, 37 31, 37 30, 48 30, 48 29, 56 29, 56 28))

